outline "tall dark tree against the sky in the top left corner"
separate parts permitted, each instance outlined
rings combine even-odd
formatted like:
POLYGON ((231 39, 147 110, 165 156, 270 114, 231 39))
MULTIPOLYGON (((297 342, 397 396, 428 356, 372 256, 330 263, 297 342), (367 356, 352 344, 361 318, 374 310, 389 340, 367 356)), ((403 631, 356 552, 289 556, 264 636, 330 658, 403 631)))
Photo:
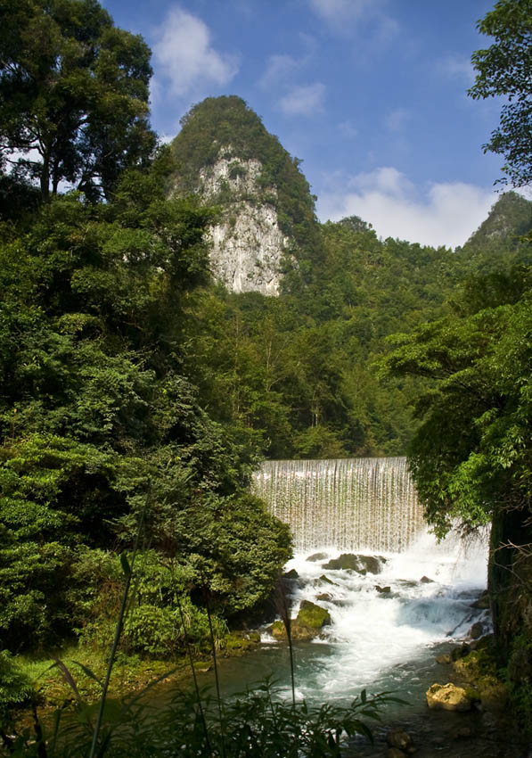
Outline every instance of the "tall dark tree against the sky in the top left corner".
POLYGON ((150 50, 96 0, 7 0, 0 61, 0 155, 44 200, 63 180, 109 196, 151 154, 150 50))

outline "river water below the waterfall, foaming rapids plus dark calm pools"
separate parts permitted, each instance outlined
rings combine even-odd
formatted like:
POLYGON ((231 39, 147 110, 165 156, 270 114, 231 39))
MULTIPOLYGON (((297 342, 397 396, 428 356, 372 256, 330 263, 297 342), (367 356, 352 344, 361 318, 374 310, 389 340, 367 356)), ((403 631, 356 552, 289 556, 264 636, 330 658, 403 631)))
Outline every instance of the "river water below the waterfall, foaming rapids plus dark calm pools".
MULTIPOLYGON (((405 552, 379 553, 386 559, 381 572, 365 575, 324 568, 339 550, 315 552, 323 556, 308 560, 302 553, 286 566, 299 574, 290 582, 292 616, 303 599, 331 614, 331 624, 318 639, 294 645, 297 698, 347 704, 365 688, 368 694, 387 691, 406 701, 386 707, 383 723, 373 728, 373 746, 356 742, 347 756, 384 756, 386 735, 396 727, 413 737, 418 758, 532 756, 504 712, 435 713, 426 704, 431 684, 451 680, 451 666, 436 663, 436 656, 460 644, 475 622, 490 630, 489 612, 471 607, 486 588, 485 539, 466 549, 460 540, 438 545, 425 531, 405 552)), ((223 661, 220 674, 224 696, 269 676, 291 697, 288 647, 267 628, 258 651, 223 661)))

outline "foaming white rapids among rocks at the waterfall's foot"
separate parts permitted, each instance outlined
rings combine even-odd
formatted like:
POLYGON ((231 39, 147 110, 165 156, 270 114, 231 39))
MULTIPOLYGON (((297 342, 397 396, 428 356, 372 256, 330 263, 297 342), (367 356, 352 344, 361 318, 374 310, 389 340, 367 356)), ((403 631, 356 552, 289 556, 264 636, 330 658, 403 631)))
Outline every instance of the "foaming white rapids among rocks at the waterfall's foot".
MULTIPOLYGON (((465 637, 477 621, 489 629, 487 612, 471 607, 486 587, 487 549, 481 540, 465 552, 456 540, 437 546, 425 533, 404 553, 381 552, 386 558, 381 573, 365 575, 323 568, 340 551, 319 552, 327 558, 316 562, 299 555, 286 566, 299 574, 291 582, 292 615, 303 599, 331 615, 331 625, 311 643, 315 649, 302 646, 299 696, 326 694, 331 700, 364 687, 407 694, 418 682, 426 689, 417 669, 433 661, 438 643, 465 637)), ((273 644, 266 635, 268 640, 273 644)))

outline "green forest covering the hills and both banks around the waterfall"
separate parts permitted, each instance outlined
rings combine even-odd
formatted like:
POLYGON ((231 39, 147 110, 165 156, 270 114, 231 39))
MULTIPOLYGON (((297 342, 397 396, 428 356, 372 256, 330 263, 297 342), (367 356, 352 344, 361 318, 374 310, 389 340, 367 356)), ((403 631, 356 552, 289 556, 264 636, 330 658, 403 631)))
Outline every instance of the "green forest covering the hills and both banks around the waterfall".
MULTIPOLYGON (((379 239, 357 217, 318 224, 299 161, 240 98, 199 103, 176 142, 157 147, 140 37, 92 0, 10 7, 2 647, 107 649, 133 555, 122 652, 180 655, 184 618, 201 651, 208 606, 223 645, 291 555, 288 528, 248 491, 264 457, 410 445, 441 533, 455 516, 466 531, 493 517, 497 549, 519 540, 532 203, 503 194, 456 251, 379 239), (208 232, 227 198, 205 202, 198 177, 225 144, 236 173, 260 161, 266 196, 249 200, 272 205, 291 240, 277 297, 228 292, 211 276, 208 232), (62 194, 61 182, 73 188, 62 194)), ((511 655, 508 607, 496 623, 511 655)))

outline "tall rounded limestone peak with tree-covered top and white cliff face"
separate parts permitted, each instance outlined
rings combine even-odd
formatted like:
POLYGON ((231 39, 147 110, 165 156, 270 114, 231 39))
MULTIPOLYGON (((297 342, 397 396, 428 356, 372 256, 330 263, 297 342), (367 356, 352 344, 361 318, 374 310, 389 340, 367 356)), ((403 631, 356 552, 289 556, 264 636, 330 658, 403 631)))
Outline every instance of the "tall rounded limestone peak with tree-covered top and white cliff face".
POLYGON ((241 98, 208 98, 172 144, 169 192, 195 193, 220 210, 210 230, 211 268, 233 292, 280 292, 283 272, 319 248, 314 198, 277 137, 241 98))

